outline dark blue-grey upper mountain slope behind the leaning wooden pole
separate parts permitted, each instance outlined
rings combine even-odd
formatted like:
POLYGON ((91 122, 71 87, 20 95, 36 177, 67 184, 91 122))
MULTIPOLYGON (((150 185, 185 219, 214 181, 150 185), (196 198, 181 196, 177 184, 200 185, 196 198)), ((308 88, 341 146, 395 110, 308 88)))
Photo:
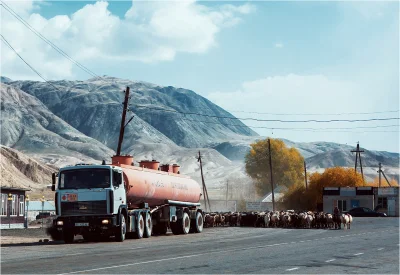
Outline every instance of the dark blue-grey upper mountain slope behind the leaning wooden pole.
POLYGON ((186 89, 112 77, 52 81, 57 89, 35 81, 15 81, 10 84, 37 97, 58 117, 110 148, 115 148, 118 140, 124 96, 122 91, 127 86, 131 89, 132 110, 128 118, 135 115, 135 119, 127 127, 126 146, 142 138, 147 142, 172 141, 179 146, 198 148, 210 142, 257 136, 240 121, 229 119, 235 118, 230 113, 186 89), (181 114, 188 112, 205 114, 207 117, 181 114), (142 131, 142 126, 147 130, 142 131))

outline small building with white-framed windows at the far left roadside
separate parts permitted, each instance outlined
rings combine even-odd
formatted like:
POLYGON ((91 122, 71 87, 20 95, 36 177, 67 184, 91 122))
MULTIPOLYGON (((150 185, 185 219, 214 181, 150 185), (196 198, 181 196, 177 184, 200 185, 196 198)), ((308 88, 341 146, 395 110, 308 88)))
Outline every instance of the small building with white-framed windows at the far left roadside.
POLYGON ((26 188, 1 187, 1 229, 24 228, 26 188))

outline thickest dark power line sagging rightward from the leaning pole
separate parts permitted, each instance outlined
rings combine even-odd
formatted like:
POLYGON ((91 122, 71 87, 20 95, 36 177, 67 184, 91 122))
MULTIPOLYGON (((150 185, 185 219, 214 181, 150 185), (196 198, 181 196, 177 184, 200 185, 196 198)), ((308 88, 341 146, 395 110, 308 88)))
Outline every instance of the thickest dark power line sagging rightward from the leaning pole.
POLYGON ((135 105, 135 108, 146 108, 150 110, 159 110, 163 112, 171 112, 171 113, 179 113, 184 115, 197 115, 203 117, 211 117, 211 118, 220 118, 220 119, 236 119, 236 120, 253 120, 253 121, 262 121, 262 122, 282 122, 282 123, 308 123, 308 122, 316 122, 316 123, 331 123, 331 122, 370 122, 370 121, 387 121, 387 120, 399 120, 398 117, 391 118, 369 118, 369 119, 330 119, 330 120, 317 120, 317 119, 308 119, 308 120, 282 120, 282 119, 259 119, 259 118, 238 118, 238 117, 227 117, 227 116, 216 116, 216 115, 208 115, 194 112, 180 112, 176 110, 168 110, 159 107, 149 107, 144 105, 135 105))

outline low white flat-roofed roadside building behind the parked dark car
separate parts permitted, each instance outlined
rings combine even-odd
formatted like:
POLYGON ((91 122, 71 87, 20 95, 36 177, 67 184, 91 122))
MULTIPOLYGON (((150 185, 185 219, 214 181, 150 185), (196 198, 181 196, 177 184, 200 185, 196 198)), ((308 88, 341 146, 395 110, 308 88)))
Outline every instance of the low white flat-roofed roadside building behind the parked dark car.
POLYGON ((399 216, 398 187, 324 187, 323 211, 333 213, 337 206, 340 211, 355 207, 367 207, 388 216, 399 216))

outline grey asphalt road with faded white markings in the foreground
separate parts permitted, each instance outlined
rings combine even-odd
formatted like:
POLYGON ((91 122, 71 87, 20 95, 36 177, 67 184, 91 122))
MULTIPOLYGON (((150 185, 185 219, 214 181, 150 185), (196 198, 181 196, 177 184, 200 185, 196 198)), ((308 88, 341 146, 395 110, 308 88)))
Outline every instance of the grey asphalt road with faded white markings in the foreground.
POLYGON ((1 273, 399 274, 399 218, 350 230, 206 228, 201 234, 1 247, 1 273))

